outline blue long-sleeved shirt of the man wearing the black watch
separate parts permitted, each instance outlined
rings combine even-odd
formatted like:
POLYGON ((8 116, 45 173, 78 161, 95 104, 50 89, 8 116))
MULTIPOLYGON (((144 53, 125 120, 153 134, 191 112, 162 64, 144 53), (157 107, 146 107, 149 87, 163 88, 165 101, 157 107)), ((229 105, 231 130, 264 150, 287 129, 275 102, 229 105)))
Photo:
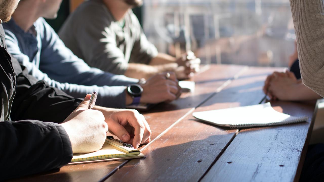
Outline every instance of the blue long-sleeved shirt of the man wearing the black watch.
POLYGON ((137 83, 137 79, 90 68, 65 47, 43 18, 27 32, 13 19, 3 27, 8 51, 27 67, 29 74, 73 97, 84 98, 87 93, 97 91, 97 105, 125 107, 125 85, 137 83))

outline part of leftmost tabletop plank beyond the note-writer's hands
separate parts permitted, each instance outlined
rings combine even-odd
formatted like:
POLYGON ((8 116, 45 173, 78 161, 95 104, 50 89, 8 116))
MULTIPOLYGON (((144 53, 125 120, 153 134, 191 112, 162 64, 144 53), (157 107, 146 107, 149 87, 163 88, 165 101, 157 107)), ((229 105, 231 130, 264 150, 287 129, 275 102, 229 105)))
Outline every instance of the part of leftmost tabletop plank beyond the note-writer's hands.
POLYGON ((179 120, 204 100, 211 97, 217 88, 234 78, 245 67, 237 65, 211 65, 211 67, 191 80, 196 83, 194 93, 185 93, 171 103, 161 103, 149 112, 143 112, 152 130, 154 140, 174 122, 179 120))

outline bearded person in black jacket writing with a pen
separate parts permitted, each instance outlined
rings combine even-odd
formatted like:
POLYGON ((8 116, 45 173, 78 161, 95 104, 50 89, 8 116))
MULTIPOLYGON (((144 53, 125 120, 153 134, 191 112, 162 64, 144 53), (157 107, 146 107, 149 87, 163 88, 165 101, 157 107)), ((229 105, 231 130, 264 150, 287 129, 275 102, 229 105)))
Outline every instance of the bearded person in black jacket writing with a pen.
POLYGON ((87 109, 90 94, 83 101, 66 95, 28 74, 8 54, 1 22, 10 19, 18 2, 0 0, 0 180, 60 168, 73 153, 97 151, 108 127, 136 148, 150 142, 143 115, 126 109, 87 109), (130 127, 134 133, 125 130, 130 127))

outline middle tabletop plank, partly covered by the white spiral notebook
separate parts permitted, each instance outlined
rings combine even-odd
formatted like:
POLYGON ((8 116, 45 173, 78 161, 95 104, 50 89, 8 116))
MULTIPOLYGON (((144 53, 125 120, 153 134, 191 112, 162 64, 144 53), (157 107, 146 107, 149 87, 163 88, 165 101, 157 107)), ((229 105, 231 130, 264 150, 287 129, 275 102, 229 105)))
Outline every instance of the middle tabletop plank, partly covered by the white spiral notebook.
MULTIPOLYGON (((266 75, 273 68, 250 68, 195 111, 258 104, 266 75)), ((190 113, 106 181, 199 181, 238 130, 196 121, 190 113)))

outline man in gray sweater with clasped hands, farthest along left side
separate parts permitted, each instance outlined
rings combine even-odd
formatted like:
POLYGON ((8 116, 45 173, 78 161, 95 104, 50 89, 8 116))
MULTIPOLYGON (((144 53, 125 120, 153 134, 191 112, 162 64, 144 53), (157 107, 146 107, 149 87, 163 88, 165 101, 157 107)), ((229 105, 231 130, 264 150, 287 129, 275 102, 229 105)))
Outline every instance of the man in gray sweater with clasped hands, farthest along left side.
POLYGON ((192 52, 178 60, 157 52, 131 10, 141 4, 142 0, 85 1, 65 21, 59 36, 89 66, 110 73, 149 78, 174 71, 178 79, 185 79, 198 71, 200 59, 192 52))

